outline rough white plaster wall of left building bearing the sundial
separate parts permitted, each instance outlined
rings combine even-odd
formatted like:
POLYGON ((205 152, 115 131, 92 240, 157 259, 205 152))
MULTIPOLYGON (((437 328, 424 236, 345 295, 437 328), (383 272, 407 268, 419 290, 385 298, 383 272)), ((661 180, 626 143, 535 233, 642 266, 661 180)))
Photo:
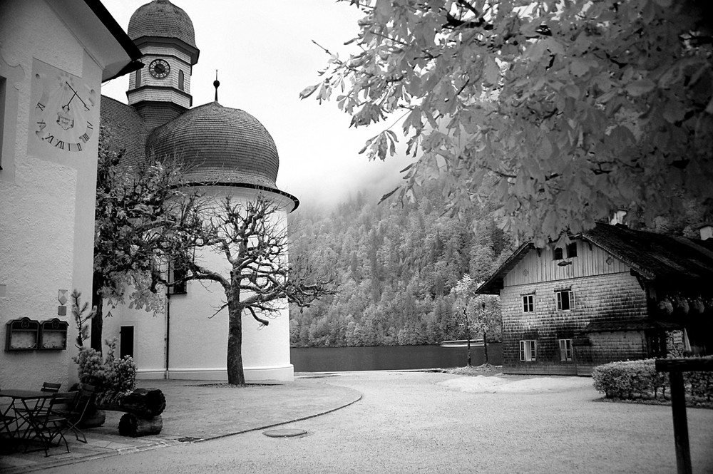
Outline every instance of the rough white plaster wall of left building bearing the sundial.
MULTIPOLYGON (((27 316, 68 321, 68 349, 0 352, 3 387, 36 388, 42 381, 76 380, 71 357, 76 329, 70 307, 58 316, 58 289, 91 293, 96 137, 83 152, 29 152, 33 118, 33 61, 38 59, 81 76, 101 89, 101 68, 43 0, 0 2, 0 55, 19 66, 14 177, 0 180, 0 327, 27 316)), ((15 117, 6 120, 15 120, 15 117)), ((1 173, 1 171, 0 171, 1 173)), ((67 386, 66 385, 66 386, 67 386)))

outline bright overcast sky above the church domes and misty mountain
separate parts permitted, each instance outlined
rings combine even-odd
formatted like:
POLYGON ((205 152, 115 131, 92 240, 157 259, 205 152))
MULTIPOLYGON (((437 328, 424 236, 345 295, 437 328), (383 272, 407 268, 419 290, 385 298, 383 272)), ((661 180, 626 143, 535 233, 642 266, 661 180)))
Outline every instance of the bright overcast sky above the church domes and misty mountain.
MULTIPOLYGON (((359 190, 375 194, 398 185, 404 158, 369 162, 359 150, 379 129, 349 128, 351 118, 334 102, 319 105, 299 92, 317 83, 330 51, 344 51, 361 17, 334 0, 172 0, 193 21, 200 49, 193 67, 193 105, 212 102, 215 70, 218 102, 240 108, 265 125, 279 153, 279 189, 302 205, 328 205, 359 190)), ((102 0, 123 27, 146 0, 102 0)), ((126 102, 128 76, 105 83, 102 93, 126 102)), ((389 123, 389 125, 391 125, 389 123)), ((373 128, 373 127, 372 127, 373 128)))

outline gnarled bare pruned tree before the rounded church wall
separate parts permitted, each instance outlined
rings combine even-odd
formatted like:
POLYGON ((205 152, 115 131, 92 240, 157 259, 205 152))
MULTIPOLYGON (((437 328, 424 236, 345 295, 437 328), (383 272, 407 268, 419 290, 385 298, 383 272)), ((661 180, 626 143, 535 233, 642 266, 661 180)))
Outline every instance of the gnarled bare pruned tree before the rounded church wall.
MULTIPOLYGON (((185 274, 181 281, 210 280, 220 284, 227 308, 228 383, 245 383, 242 364, 242 316, 250 314, 267 326, 287 302, 309 306, 314 299, 333 294, 333 279, 310 281, 308 267, 290 265, 287 260, 287 227, 280 220, 280 207, 264 195, 255 200, 235 202, 224 197, 198 211, 200 230, 183 235, 173 255, 176 269, 185 274), (223 274, 202 263, 205 252, 215 252, 229 264, 223 274), (286 301, 287 300, 287 301, 286 301)), ((165 282, 168 283, 168 282, 165 282)))

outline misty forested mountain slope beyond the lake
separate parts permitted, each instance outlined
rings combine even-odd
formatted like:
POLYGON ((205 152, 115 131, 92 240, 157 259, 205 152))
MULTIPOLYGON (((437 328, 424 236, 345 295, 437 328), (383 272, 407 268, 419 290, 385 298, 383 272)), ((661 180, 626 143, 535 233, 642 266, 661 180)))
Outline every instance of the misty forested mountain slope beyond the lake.
MULTIPOLYGON (((438 181, 416 203, 360 194, 332 212, 291 216, 290 258, 337 272, 337 294, 290 311, 293 346, 438 344, 460 339, 453 288, 488 277, 513 249, 485 207, 445 215, 438 181)), ((477 337, 477 336, 473 336, 477 337)), ((498 339, 499 331, 488 339, 498 339)))

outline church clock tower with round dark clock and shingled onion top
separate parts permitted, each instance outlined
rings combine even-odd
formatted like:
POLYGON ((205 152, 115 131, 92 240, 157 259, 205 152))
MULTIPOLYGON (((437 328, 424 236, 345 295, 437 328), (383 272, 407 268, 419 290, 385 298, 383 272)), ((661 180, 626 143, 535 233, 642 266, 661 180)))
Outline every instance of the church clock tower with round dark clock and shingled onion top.
POLYGON ((146 66, 131 74, 126 96, 153 130, 193 105, 190 75, 200 52, 193 22, 170 1, 154 0, 131 16, 128 36, 146 66))

